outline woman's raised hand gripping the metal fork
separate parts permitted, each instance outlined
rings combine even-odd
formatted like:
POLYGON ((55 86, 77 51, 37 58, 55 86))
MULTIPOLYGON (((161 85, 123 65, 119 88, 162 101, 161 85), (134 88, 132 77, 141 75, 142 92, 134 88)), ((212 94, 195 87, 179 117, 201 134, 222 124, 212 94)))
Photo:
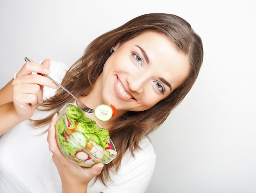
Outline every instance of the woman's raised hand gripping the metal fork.
POLYGON ((26 62, 13 79, 13 104, 17 115, 22 119, 29 119, 36 107, 43 102, 43 86, 58 88, 47 77, 32 72, 49 74, 50 60, 45 59, 41 64, 26 62))

